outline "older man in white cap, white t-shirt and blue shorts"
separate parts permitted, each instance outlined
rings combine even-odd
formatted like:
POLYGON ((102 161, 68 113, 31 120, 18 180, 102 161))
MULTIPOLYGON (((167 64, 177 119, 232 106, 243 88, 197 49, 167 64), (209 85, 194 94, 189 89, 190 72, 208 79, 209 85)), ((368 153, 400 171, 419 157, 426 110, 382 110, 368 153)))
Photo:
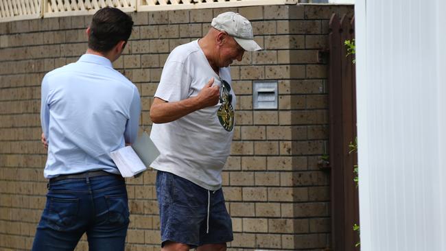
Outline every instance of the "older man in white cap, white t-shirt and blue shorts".
POLYGON ((221 176, 234 128, 228 66, 261 48, 240 14, 222 13, 211 26, 170 53, 150 109, 151 138, 161 152, 152 167, 164 251, 226 250, 233 240, 221 176))

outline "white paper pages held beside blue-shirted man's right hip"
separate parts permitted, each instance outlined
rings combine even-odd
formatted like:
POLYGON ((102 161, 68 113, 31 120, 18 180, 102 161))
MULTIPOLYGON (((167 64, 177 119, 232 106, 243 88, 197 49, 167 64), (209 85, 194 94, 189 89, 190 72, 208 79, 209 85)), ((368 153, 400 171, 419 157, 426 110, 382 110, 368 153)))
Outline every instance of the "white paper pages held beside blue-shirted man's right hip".
POLYGON ((110 157, 115 162, 121 172, 121 176, 132 177, 147 169, 137 153, 130 146, 123 147, 114 152, 110 152, 110 157))

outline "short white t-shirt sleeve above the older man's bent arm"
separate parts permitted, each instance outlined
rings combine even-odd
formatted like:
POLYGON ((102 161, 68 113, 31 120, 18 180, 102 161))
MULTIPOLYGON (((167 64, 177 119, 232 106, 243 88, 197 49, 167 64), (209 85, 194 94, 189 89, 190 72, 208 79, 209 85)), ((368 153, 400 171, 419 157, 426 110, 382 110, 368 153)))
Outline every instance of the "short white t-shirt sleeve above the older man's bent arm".
POLYGON ((164 65, 154 97, 168 102, 187 99, 190 86, 191 77, 185 63, 168 60, 164 65))

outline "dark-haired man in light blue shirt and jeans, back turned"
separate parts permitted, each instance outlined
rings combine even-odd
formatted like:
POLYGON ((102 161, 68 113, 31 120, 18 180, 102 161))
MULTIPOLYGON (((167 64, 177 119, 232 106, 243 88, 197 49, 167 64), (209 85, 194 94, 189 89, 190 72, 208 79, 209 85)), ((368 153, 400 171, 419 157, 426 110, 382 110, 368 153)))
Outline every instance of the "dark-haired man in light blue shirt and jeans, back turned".
POLYGON ((121 10, 99 10, 86 29, 86 53, 43 78, 40 119, 49 182, 32 250, 74 250, 85 232, 89 250, 124 250, 126 184, 109 153, 134 142, 141 105, 137 87, 112 62, 132 25, 121 10))

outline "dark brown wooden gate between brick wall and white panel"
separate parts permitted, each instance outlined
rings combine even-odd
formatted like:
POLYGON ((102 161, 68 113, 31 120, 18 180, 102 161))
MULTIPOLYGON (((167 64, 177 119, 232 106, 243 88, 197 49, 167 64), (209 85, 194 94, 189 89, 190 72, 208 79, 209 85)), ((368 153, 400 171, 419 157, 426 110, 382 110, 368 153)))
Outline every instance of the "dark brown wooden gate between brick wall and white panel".
POLYGON ((355 38, 354 18, 331 16, 329 34, 329 162, 331 167, 331 233, 334 251, 359 250, 353 225, 359 224, 359 205, 353 166, 356 152, 355 66, 345 40, 355 38))

